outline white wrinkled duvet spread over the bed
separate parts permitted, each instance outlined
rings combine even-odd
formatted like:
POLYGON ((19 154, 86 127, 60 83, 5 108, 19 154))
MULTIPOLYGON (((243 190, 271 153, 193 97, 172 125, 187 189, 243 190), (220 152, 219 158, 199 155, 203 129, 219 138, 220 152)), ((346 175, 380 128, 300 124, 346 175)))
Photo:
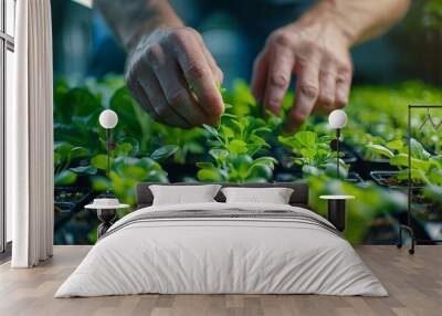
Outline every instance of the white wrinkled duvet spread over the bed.
MULTIPOLYGON (((227 208, 290 210, 328 223, 291 206, 199 203, 140 209, 113 228, 145 212, 227 208)), ((206 218, 123 225, 97 242, 55 297, 140 293, 388 295, 351 245, 322 227, 206 218)))

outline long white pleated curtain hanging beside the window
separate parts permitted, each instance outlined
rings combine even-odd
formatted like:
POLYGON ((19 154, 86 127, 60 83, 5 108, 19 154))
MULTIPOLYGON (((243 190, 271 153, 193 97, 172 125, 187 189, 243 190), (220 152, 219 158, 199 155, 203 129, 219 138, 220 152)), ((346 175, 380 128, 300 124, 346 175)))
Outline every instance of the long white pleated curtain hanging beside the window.
POLYGON ((50 0, 17 1, 14 104, 7 108, 7 207, 13 267, 52 256, 53 122, 50 0))

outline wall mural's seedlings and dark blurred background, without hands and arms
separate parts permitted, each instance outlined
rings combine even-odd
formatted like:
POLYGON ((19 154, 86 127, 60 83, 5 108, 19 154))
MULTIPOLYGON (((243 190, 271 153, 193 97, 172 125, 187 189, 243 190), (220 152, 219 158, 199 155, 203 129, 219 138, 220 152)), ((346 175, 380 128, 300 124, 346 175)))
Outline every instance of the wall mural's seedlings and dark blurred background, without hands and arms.
MULTIPOLYGON (((122 202, 135 207, 135 187, 143 181, 298 179, 308 181, 311 206, 322 214, 326 201, 319 196, 356 197, 348 204, 350 224, 345 234, 350 242, 396 242, 408 207, 408 105, 442 104, 442 76, 433 71, 435 66, 425 70, 424 61, 421 69, 414 69, 419 41, 429 49, 428 59, 433 57, 431 50, 440 48, 432 39, 440 35, 441 28, 418 23, 428 17, 428 8, 413 10, 389 35, 354 52, 355 80, 345 108, 348 123, 341 130, 337 175, 335 130, 327 116, 313 115, 298 131, 284 133, 294 93, 285 95, 280 116, 265 113, 248 81, 241 78, 249 73, 236 67, 234 56, 245 48, 220 53, 225 69, 234 69, 234 75, 220 87, 224 104, 220 124, 192 129, 170 127, 154 120, 129 93, 123 77, 124 54, 97 10, 60 2, 52 6, 55 243, 96 241, 98 222, 83 207, 108 188, 122 202), (422 33, 428 35, 420 36, 422 33), (72 46, 74 40, 76 45, 72 46), (373 61, 373 54, 377 59, 391 56, 401 48, 407 53, 387 62, 388 67, 382 61, 373 61), (233 55, 229 59, 229 54, 233 55), (398 74, 397 70, 403 71, 398 74), (106 134, 98 124, 99 114, 107 108, 118 115, 112 130, 115 146, 109 177, 106 134)), ((229 35, 225 41, 235 41, 240 32, 229 25, 223 24, 229 35)), ((213 25, 200 24, 202 33, 204 28, 213 33, 213 25)), ((433 63, 440 65, 440 61, 433 63)), ((419 239, 438 240, 442 236, 442 109, 414 114, 411 127, 412 224, 419 239)))

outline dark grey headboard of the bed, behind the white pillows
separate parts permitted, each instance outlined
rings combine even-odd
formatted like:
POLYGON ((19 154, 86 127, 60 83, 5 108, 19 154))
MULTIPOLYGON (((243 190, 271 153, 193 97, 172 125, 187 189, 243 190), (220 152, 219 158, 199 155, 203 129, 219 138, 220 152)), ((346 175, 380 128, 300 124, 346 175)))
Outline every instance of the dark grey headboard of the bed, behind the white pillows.
MULTIPOLYGON (((143 182, 137 186, 137 209, 150 207, 154 201, 154 196, 149 189, 151 185, 164 185, 164 186, 201 186, 212 185, 204 182, 178 182, 178 183, 155 183, 155 182, 143 182)), ((222 187, 241 187, 241 188, 291 188, 293 193, 290 199, 290 204, 293 207, 301 207, 311 209, 308 207, 308 185, 306 181, 296 182, 274 182, 274 183, 215 183, 222 187)), ((218 192, 214 198, 218 202, 225 202, 225 197, 221 192, 218 192)))

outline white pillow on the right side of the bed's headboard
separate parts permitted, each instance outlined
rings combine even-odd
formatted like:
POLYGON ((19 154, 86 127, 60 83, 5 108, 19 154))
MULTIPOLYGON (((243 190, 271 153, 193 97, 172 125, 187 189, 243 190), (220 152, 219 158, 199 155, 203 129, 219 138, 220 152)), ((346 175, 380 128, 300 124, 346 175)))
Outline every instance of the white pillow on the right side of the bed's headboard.
POLYGON ((293 189, 290 188, 223 188, 227 203, 288 204, 293 189))

